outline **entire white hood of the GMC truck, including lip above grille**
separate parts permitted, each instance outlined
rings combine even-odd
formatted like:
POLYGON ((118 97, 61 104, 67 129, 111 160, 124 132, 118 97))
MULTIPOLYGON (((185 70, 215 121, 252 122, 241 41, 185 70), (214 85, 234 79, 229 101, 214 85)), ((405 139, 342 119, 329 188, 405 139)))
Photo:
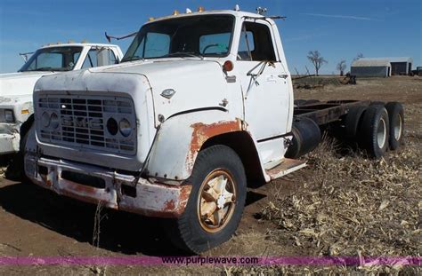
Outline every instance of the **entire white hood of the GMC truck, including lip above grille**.
MULTIPOLYGON (((221 65, 215 60, 165 59, 134 61, 43 77, 36 91, 126 92, 134 101, 151 93, 156 126, 164 119, 193 109, 217 107, 226 92, 221 65), (171 99, 161 96, 174 90, 171 99), (143 93, 143 95, 142 95, 143 93)), ((227 97, 227 96, 225 96, 227 97)))

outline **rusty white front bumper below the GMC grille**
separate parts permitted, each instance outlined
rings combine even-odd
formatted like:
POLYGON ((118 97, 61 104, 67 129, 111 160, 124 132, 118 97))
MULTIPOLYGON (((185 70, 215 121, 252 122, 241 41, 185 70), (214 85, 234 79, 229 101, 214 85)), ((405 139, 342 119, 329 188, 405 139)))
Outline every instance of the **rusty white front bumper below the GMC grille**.
POLYGON ((180 217, 191 193, 191 185, 152 183, 101 167, 64 160, 25 155, 25 173, 34 183, 55 193, 110 209, 126 210, 148 217, 180 217), (64 174, 102 179, 103 188, 63 178, 64 174), (127 193, 130 191, 130 193, 127 193))

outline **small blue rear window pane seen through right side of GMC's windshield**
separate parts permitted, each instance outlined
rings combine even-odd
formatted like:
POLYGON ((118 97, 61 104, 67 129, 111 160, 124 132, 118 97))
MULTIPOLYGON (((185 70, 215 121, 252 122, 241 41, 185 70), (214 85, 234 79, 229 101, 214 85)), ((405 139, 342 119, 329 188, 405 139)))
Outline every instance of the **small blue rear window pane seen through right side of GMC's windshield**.
POLYGON ((229 51, 231 33, 201 35, 199 52, 201 54, 222 54, 229 51))

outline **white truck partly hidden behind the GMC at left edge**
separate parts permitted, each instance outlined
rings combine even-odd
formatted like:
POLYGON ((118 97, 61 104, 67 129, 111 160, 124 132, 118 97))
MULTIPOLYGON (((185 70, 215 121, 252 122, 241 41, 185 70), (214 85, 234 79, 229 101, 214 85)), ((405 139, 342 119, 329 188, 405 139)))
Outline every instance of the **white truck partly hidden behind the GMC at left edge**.
POLYGON ((122 57, 113 44, 53 44, 35 51, 18 73, 0 75, 0 155, 19 152, 20 137, 33 122, 32 93, 40 77, 112 65, 122 57))

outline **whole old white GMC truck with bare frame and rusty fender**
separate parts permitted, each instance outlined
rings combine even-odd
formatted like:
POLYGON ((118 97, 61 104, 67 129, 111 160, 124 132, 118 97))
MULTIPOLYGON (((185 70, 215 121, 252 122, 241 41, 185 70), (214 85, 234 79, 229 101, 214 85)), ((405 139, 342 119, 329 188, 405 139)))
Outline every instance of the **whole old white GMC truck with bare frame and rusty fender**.
POLYGON ((248 186, 304 167, 297 158, 321 130, 374 158, 397 148, 399 103, 295 104, 275 18, 174 12, 150 19, 116 66, 41 78, 27 177, 80 201, 165 217, 174 245, 199 253, 230 239, 248 186))

